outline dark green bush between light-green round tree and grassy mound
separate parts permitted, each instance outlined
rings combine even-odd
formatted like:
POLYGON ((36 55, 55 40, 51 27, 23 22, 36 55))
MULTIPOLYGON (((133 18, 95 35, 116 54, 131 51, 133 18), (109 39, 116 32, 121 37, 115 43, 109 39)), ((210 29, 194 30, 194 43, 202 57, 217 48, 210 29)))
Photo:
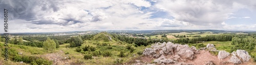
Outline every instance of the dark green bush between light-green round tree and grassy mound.
POLYGON ((71 37, 70 39, 67 40, 68 43, 70 43, 70 47, 78 47, 83 44, 83 41, 80 37, 71 37))

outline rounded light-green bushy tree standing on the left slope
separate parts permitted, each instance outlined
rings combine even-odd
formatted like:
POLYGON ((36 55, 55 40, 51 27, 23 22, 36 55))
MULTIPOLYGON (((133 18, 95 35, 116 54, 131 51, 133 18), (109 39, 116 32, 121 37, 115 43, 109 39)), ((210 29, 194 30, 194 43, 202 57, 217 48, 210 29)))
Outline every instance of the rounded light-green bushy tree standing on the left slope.
POLYGON ((47 37, 47 40, 44 41, 44 43, 43 43, 43 48, 45 50, 49 50, 49 51, 55 50, 56 49, 56 43, 54 42, 54 40, 47 37))

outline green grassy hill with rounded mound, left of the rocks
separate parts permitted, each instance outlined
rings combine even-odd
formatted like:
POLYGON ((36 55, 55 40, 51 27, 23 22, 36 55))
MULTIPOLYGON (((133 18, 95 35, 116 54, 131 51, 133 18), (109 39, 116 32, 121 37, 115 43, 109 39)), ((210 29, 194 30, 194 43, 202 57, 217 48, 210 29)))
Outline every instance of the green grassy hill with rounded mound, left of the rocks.
POLYGON ((124 62, 130 62, 134 58, 140 57, 143 49, 150 47, 134 47, 132 44, 127 44, 124 41, 120 41, 114 38, 112 35, 106 32, 96 34, 91 40, 83 40, 83 44, 80 47, 67 47, 70 44, 66 43, 60 45, 54 51, 46 51, 42 48, 29 47, 24 45, 8 44, 9 60, 4 60, 4 42, 0 42, 0 64, 41 64, 47 62, 48 64, 119 64, 124 62), (95 50, 84 51, 87 46, 95 48, 95 50), (81 49, 81 51, 77 51, 81 49), (120 56, 120 52, 124 52, 123 56, 120 56), (19 54, 22 53, 22 54, 19 54), (110 53, 110 56, 104 54, 110 53), (92 59, 85 59, 84 55, 92 55, 92 59), (35 61, 31 58, 39 58, 35 61), (23 63, 20 63, 23 61, 23 63))

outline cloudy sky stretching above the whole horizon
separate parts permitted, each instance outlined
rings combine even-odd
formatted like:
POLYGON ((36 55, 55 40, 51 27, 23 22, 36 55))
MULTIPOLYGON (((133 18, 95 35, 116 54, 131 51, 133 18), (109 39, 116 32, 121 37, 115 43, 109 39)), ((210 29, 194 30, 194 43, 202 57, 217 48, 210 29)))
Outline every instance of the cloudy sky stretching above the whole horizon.
MULTIPOLYGON (((0 0, 0 9, 2 21, 4 9, 8 10, 9 33, 90 30, 256 31, 254 0, 0 0)), ((0 32, 4 33, 4 30, 0 32)))

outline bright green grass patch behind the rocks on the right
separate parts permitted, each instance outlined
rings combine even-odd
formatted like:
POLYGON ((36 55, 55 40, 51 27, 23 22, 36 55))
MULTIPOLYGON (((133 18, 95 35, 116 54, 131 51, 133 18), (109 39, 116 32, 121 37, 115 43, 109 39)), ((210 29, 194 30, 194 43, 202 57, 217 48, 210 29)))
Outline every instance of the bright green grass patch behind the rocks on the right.
POLYGON ((231 45, 231 41, 206 41, 198 44, 204 44, 205 46, 207 44, 214 44, 217 50, 225 50, 226 52, 229 52, 234 47, 234 45, 231 45))

